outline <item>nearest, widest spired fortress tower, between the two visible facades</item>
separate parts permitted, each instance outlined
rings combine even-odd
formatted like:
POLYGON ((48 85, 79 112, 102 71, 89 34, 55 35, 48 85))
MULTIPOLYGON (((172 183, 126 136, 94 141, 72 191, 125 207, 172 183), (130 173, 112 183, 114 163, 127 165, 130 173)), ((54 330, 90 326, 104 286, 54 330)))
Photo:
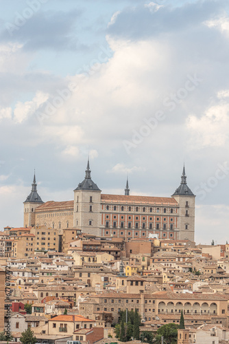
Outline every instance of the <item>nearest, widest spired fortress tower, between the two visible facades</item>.
POLYGON ((101 190, 91 179, 91 169, 86 166, 85 178, 74 190, 73 226, 83 233, 99 235, 101 224, 101 190))

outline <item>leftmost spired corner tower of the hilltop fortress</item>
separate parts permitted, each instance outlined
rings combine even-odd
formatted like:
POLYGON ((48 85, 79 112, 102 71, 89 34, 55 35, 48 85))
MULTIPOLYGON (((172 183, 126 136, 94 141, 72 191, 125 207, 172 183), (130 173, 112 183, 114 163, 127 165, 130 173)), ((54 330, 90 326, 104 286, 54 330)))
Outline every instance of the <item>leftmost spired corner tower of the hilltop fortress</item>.
POLYGON ((41 200, 40 196, 38 195, 36 189, 36 175, 34 171, 34 180, 32 183, 32 190, 29 193, 27 199, 24 204, 24 227, 32 227, 35 226, 35 209, 43 204, 43 200, 41 200))

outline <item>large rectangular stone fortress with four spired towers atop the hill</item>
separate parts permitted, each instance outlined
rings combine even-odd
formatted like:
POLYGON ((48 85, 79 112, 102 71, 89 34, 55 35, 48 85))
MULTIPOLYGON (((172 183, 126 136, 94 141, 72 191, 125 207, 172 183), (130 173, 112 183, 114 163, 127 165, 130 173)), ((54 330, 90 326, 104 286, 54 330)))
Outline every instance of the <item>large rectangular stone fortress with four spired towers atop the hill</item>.
POLYGON ((183 168, 181 183, 171 197, 104 195, 91 179, 88 165, 84 180, 74 190, 74 200, 43 202, 36 178, 24 202, 24 226, 77 228, 104 237, 190 239, 195 234, 195 195, 186 184, 183 168))

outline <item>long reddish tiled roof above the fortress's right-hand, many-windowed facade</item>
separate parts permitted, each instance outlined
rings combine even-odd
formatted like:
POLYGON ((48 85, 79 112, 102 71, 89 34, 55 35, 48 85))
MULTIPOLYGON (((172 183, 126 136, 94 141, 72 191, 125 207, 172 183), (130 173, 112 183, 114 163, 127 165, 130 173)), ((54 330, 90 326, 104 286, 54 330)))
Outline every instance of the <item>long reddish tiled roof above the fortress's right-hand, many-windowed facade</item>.
POLYGON ((103 202, 125 202, 125 203, 145 203, 145 204, 173 204, 178 202, 173 197, 151 197, 151 196, 125 196, 125 195, 101 195, 103 202))

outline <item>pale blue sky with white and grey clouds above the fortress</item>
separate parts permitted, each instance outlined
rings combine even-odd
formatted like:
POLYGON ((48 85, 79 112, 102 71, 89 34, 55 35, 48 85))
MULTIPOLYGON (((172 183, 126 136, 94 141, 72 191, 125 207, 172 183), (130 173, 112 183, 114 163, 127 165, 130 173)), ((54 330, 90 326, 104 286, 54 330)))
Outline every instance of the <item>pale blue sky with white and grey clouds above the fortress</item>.
POLYGON ((0 230, 38 193, 196 195, 195 241, 229 229, 229 3, 0 0, 0 230))

